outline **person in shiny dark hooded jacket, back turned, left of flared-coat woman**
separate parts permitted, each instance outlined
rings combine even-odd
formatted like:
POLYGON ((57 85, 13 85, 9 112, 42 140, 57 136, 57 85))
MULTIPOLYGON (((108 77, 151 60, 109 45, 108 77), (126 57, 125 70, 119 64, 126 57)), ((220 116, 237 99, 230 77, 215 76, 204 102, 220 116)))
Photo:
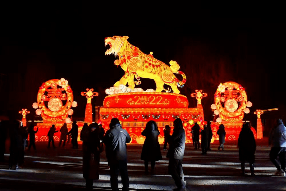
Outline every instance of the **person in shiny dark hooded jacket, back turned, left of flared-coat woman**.
POLYGON ((118 190, 118 170, 121 175, 122 191, 129 190, 129 178, 127 171, 127 144, 131 137, 125 129, 122 129, 117 118, 110 121, 110 131, 105 133, 103 142, 109 153, 110 185, 112 190, 118 190))

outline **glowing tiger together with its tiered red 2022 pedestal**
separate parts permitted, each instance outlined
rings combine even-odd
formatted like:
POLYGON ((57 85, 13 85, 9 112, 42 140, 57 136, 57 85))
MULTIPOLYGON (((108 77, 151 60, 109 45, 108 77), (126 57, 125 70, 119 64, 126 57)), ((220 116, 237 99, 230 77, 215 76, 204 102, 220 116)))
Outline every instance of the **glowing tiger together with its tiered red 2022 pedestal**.
POLYGON ((105 54, 118 56, 119 59, 115 60, 114 64, 121 66, 125 74, 113 87, 105 91, 108 96, 104 99, 104 107, 99 111, 103 127, 108 129, 110 120, 116 117, 121 121, 122 128, 130 134, 131 143, 143 144, 145 137, 141 132, 148 121, 154 120, 160 131, 159 143, 163 143, 165 125, 172 127, 174 119, 179 117, 186 130, 186 142, 191 142, 190 128, 194 122, 201 122, 200 115, 203 111, 199 108, 188 108, 188 99, 179 94, 178 87, 184 86, 186 75, 178 71, 180 66, 177 62, 171 60, 168 66, 154 58, 152 52, 144 54, 127 39, 126 36, 105 39, 105 45, 110 46, 105 54), (182 81, 174 74, 180 74, 182 81), (142 83, 141 78, 153 79, 156 90, 136 88, 135 85, 142 83), (164 84, 170 87, 165 89, 164 84))

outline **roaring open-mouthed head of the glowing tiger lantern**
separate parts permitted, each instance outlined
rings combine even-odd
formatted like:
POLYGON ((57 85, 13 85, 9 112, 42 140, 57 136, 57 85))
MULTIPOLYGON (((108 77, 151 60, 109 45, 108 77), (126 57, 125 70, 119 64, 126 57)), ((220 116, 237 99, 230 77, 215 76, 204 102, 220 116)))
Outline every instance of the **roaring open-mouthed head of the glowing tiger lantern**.
POLYGON ((122 48, 124 42, 128 38, 128 36, 113 36, 105 38, 105 46, 110 46, 110 48, 106 50, 105 55, 114 54, 114 56, 116 57, 120 48, 122 48))

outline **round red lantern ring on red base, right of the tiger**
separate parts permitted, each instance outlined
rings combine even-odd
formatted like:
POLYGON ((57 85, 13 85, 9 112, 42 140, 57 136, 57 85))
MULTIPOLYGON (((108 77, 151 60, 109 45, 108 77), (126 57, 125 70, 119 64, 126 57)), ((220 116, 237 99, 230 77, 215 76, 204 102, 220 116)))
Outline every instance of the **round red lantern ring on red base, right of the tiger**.
MULTIPOLYGON (((213 124, 223 124, 227 140, 237 140, 243 124, 244 113, 249 113, 252 103, 247 101, 245 88, 236 82, 219 84, 215 92, 215 105, 211 106, 215 115, 219 115, 213 124)), ((252 127, 254 137, 255 129, 252 127)), ((214 130, 213 130, 214 133, 214 130)), ((215 137, 218 140, 218 137, 215 137)))

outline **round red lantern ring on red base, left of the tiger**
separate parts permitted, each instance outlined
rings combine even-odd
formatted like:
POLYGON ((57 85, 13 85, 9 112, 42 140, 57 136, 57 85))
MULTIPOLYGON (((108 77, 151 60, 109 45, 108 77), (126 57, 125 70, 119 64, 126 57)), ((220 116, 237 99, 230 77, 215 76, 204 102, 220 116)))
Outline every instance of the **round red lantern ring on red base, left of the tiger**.
MULTIPOLYGON (((37 123, 39 131, 35 141, 48 141, 47 133, 53 124, 59 130, 65 123, 68 113, 73 112, 71 110, 72 105, 75 105, 73 98, 73 91, 64 78, 42 83, 37 94, 37 103, 33 103, 33 108, 37 109, 36 114, 41 115, 43 119, 43 123, 37 123)), ((71 124, 67 123, 67 127, 70 130, 71 124)), ((54 134, 55 141, 59 141, 59 137, 60 133, 54 134)))

